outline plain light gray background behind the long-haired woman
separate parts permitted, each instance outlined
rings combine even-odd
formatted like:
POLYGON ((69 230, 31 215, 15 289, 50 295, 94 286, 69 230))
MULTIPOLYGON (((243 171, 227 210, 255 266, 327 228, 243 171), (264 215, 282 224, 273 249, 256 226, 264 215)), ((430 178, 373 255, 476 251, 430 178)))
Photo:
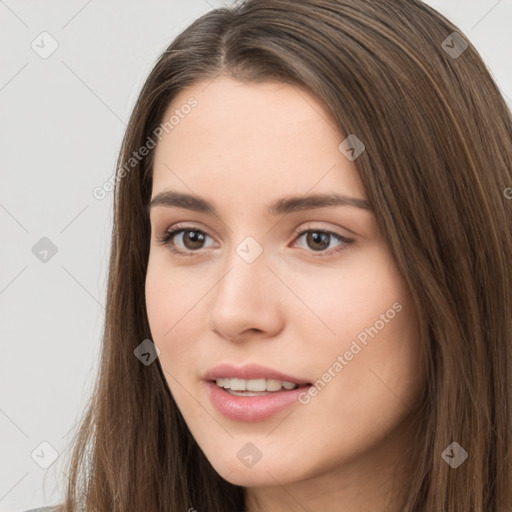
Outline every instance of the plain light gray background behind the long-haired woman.
MULTIPOLYGON (((63 497, 105 311, 112 193, 92 190, 115 170, 155 59, 228 3, 0 0, 0 512, 63 497), (51 48, 44 31, 58 43, 47 58, 31 47, 51 48), (43 237, 57 248, 46 262, 32 251, 43 237), (43 442, 59 455, 47 469, 43 442)), ((427 3, 469 37, 512 107, 512 0, 427 3)))

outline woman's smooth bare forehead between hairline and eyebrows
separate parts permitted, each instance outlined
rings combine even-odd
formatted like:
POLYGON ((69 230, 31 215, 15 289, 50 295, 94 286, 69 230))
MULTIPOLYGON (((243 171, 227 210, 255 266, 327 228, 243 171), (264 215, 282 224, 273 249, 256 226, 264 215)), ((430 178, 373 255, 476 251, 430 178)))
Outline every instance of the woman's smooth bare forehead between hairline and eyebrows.
POLYGON ((182 90, 162 122, 171 118, 155 149, 156 192, 188 187, 205 195, 224 187, 250 199, 314 187, 365 195, 355 164, 338 149, 344 135, 322 104, 296 86, 220 77, 182 90))

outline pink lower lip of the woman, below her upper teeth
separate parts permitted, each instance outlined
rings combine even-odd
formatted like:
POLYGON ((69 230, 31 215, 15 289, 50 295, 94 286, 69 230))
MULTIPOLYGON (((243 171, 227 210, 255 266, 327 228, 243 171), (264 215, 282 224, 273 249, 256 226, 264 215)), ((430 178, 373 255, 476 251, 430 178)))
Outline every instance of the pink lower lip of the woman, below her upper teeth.
POLYGON ((206 384, 216 409, 235 421, 264 421, 292 404, 299 403, 299 395, 310 387, 302 386, 290 391, 275 391, 260 396, 236 396, 224 391, 215 382, 206 384))

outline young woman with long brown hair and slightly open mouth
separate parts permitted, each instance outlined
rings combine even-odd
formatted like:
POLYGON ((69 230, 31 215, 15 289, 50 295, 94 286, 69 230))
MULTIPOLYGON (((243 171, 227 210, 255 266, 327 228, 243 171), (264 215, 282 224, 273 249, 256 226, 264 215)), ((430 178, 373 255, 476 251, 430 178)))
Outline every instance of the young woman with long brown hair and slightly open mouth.
POLYGON ((58 510, 509 510, 511 141, 419 1, 192 23, 121 148, 58 510))

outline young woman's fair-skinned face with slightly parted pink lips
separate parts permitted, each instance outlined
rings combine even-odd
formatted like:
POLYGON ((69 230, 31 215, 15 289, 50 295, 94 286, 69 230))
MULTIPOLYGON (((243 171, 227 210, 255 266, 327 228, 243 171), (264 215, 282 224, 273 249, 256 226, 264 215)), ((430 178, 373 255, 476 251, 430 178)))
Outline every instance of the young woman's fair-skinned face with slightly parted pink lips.
POLYGON ((150 210, 146 300, 192 435, 237 485, 382 474, 407 443, 424 381, 415 311, 374 213, 307 202, 337 194, 364 206, 345 136, 313 97, 278 83, 204 82, 164 121, 173 115, 155 149, 152 200, 191 197, 160 196, 150 210), (314 386, 235 396, 210 382, 221 364, 266 367, 241 374, 258 377, 253 389, 272 372, 314 386))

